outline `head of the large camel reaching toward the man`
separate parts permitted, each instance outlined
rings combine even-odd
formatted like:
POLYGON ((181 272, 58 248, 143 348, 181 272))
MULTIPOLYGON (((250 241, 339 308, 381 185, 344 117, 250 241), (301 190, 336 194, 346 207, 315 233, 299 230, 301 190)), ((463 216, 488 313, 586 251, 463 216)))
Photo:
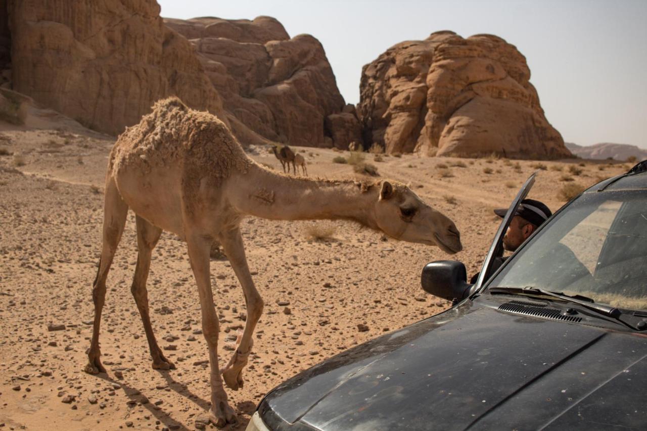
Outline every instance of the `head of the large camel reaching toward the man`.
POLYGON ((380 230, 393 238, 437 245, 451 254, 463 249, 454 222, 424 203, 407 186, 382 181, 375 215, 380 230))

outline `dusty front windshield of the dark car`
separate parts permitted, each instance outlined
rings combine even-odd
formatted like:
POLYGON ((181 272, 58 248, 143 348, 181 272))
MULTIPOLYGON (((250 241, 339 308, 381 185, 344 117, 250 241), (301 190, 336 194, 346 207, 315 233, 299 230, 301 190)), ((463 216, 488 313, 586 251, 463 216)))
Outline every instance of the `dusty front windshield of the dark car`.
POLYGON ((647 192, 585 193, 488 283, 527 286, 647 309, 647 192))

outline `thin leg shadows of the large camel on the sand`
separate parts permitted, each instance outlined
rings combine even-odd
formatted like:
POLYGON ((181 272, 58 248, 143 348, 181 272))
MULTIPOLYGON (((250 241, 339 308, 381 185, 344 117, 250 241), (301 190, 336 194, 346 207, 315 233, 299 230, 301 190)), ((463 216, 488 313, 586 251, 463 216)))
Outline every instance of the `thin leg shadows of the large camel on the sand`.
MULTIPOLYGON (((195 393, 191 392, 188 387, 184 386, 182 383, 175 381, 173 377, 171 377, 170 371, 162 371, 162 370, 155 370, 158 373, 164 377, 164 380, 166 380, 166 384, 168 384, 168 387, 170 390, 173 392, 177 393, 178 395, 182 395, 182 397, 185 397, 186 399, 192 401, 195 403, 201 410, 204 411, 204 415, 208 412, 209 408, 211 407, 211 403, 208 401, 205 401, 198 395, 195 395, 195 393)), ((142 404, 140 401, 142 400, 142 395, 146 397, 147 399, 149 398, 146 393, 144 393, 142 390, 138 390, 137 388, 133 388, 133 386, 129 386, 127 384, 125 379, 121 380, 115 380, 107 373, 99 373, 96 375, 99 379, 102 379, 107 382, 111 383, 116 383, 121 388, 124 390, 124 393, 126 393, 126 396, 131 399, 131 401, 134 401, 135 403, 141 405, 142 407, 146 408, 155 418, 160 421, 160 423, 164 424, 167 428, 170 430, 193 430, 195 428, 193 423, 190 424, 184 424, 177 419, 173 419, 167 412, 164 411, 164 408, 160 406, 156 406, 153 403, 145 403, 142 404)), ((124 375, 124 377, 126 377, 124 375)), ((254 414, 254 411, 256 410, 256 404, 252 403, 251 401, 241 401, 240 403, 236 404, 236 407, 239 412, 247 415, 252 415, 254 414)), ((197 417, 200 417, 201 415, 198 415, 197 417)), ((247 428, 247 424, 249 423, 249 419, 247 418, 238 418, 238 423, 234 424, 228 424, 224 426, 223 428, 219 428, 221 430, 228 430, 228 431, 238 431, 238 430, 245 430, 247 428)))

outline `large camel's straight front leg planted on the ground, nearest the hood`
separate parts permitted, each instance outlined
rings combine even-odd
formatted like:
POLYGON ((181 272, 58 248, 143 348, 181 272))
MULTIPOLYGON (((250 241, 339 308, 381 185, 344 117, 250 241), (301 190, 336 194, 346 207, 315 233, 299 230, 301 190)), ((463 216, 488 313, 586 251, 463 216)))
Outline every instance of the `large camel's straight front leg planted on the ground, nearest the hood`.
POLYGON ((203 335, 209 348, 211 366, 211 408, 209 409, 209 418, 215 426, 225 426, 227 423, 236 423, 236 412, 227 403, 227 394, 225 388, 223 388, 223 380, 218 370, 219 324, 209 278, 209 250, 212 242, 201 236, 187 238, 189 260, 191 261, 193 275, 200 295, 203 335))

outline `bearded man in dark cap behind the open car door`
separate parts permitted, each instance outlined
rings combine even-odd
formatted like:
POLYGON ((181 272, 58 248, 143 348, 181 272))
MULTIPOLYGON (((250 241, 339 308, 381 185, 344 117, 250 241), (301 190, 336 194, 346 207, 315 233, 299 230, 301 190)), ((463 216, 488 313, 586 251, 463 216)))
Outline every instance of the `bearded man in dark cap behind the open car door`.
MULTIPOLYGON (((507 208, 502 208, 499 210, 494 210, 494 214, 503 218, 508 212, 507 208)), ((550 208, 546 206, 543 202, 535 201, 534 199, 523 199, 519 204, 514 217, 510 221, 508 230, 505 231, 505 236, 503 237, 503 249, 514 252, 519 246, 525 241, 532 232, 537 230, 544 221, 549 219, 553 215, 550 208)), ((507 258, 502 256, 497 256, 494 258, 492 263, 492 274, 499 269, 503 262, 507 258)), ((476 280, 479 278, 480 272, 477 272, 470 280, 470 283, 476 283, 476 280)))

